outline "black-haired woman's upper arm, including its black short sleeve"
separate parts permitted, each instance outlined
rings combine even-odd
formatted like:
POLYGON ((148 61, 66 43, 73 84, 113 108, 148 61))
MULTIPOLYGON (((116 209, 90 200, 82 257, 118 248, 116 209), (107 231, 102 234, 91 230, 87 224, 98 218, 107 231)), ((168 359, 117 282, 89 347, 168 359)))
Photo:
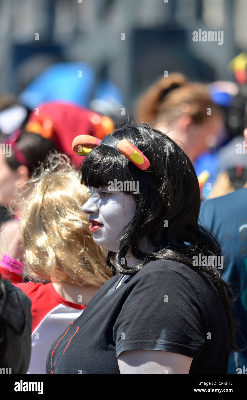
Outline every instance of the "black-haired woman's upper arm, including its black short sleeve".
POLYGON ((151 262, 129 283, 113 327, 121 374, 188 374, 204 348, 200 296, 172 264, 151 262))

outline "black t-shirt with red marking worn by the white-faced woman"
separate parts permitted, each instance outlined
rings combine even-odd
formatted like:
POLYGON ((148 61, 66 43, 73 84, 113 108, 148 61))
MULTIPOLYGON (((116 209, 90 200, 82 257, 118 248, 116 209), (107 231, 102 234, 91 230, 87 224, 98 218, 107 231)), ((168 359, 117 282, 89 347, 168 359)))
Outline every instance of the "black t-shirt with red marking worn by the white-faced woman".
POLYGON ((190 374, 227 374, 229 326, 210 281, 193 268, 156 260, 107 281, 55 340, 47 374, 120 374, 125 350, 164 350, 193 358, 190 374))

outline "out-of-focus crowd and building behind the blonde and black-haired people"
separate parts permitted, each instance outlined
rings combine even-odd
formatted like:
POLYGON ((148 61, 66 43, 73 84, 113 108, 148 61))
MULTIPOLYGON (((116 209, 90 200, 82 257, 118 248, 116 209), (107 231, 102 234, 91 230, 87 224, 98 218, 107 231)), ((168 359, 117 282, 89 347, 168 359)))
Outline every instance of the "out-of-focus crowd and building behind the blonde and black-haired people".
MULTIPOLYGON (((188 154, 209 199, 204 224, 223 245, 224 279, 241 288, 246 339, 246 20, 247 0, 0 0, 0 222, 12 227, 0 254, 21 217, 8 214, 16 188, 47 155, 78 166, 77 135, 93 147, 127 121, 152 123, 188 154)), ((229 373, 246 365, 247 350, 235 352, 229 373)))

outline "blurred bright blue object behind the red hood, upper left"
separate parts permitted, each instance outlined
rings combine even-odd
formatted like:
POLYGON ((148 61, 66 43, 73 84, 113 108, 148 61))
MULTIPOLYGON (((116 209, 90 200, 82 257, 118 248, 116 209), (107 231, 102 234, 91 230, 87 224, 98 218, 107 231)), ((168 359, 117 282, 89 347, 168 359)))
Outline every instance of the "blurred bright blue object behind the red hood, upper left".
POLYGON ((72 102, 88 108, 93 98, 123 102, 113 82, 106 79, 97 82, 95 69, 82 62, 49 66, 19 96, 20 102, 31 110, 50 101, 72 102))

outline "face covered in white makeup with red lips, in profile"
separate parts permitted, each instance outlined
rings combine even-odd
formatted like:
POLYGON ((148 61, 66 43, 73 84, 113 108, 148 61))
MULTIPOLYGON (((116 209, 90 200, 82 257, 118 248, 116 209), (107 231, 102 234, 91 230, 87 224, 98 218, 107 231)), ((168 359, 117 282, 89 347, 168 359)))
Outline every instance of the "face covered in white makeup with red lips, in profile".
POLYGON ((93 240, 109 251, 117 252, 121 232, 133 218, 136 210, 134 197, 107 188, 89 188, 91 196, 82 211, 89 215, 93 240))

